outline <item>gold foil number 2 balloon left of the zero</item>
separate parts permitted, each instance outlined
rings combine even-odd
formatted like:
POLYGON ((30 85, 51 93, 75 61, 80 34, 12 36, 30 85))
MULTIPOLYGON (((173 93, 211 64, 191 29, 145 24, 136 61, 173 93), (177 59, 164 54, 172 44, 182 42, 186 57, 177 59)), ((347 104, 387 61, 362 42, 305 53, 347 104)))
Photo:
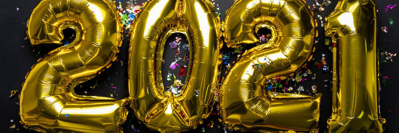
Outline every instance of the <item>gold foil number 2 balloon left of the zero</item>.
POLYGON ((39 59, 26 75, 21 122, 38 132, 121 132, 127 99, 80 96, 73 88, 111 65, 122 43, 122 24, 109 0, 42 0, 27 23, 33 46, 59 45, 62 31, 76 39, 39 59))

